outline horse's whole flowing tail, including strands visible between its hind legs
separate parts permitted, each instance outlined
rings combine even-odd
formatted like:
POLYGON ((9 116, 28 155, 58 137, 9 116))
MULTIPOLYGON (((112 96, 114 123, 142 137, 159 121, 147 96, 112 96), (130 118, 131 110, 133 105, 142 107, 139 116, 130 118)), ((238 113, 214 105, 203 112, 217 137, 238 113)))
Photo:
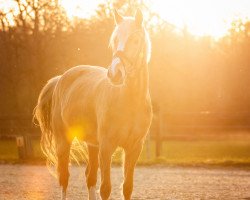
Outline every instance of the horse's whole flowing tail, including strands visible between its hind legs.
MULTIPOLYGON (((56 76, 48 81, 42 89, 38 103, 34 109, 34 119, 36 119, 41 128, 41 150, 47 158, 47 165, 52 174, 55 175, 51 167, 58 164, 57 149, 55 135, 52 132, 51 126, 51 106, 52 96, 56 84, 61 76, 56 76)), ((81 143, 77 138, 72 142, 70 149, 70 160, 80 164, 80 162, 87 162, 88 156, 86 151, 86 144, 81 143)))

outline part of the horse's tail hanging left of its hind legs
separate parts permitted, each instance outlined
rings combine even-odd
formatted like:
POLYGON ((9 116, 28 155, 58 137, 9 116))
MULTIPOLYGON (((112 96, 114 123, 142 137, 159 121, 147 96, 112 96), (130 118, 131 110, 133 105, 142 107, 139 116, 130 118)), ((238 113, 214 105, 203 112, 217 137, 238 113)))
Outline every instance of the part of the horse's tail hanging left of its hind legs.
POLYGON ((34 109, 34 120, 36 119, 38 121, 42 132, 41 149, 47 157, 49 165, 55 165, 57 163, 55 138, 51 127, 51 106, 53 92, 59 79, 60 76, 56 76, 48 81, 43 87, 34 109))

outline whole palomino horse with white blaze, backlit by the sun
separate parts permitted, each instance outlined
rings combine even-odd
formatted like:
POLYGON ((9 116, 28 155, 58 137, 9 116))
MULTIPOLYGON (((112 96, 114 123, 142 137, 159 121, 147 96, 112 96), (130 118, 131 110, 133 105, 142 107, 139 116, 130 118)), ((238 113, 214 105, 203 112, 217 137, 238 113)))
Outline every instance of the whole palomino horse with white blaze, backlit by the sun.
POLYGON ((110 67, 77 66, 49 80, 35 109, 42 130, 41 147, 57 166, 62 199, 66 199, 74 137, 85 141, 88 147, 85 174, 89 199, 96 199, 99 166, 100 196, 102 200, 109 198, 111 156, 118 146, 125 153, 123 195, 124 199, 131 199, 134 168, 152 118, 148 86, 150 41, 140 10, 134 18, 114 13, 110 67))

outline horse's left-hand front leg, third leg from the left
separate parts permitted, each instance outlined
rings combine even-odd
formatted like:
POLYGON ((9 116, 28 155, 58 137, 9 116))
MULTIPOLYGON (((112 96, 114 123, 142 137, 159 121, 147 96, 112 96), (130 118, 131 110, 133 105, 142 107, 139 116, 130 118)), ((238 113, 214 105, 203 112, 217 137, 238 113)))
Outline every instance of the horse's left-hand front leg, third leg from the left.
POLYGON ((101 170, 101 187, 100 195, 102 200, 107 200, 111 193, 110 168, 111 156, 115 146, 110 141, 104 139, 99 145, 99 162, 101 170))

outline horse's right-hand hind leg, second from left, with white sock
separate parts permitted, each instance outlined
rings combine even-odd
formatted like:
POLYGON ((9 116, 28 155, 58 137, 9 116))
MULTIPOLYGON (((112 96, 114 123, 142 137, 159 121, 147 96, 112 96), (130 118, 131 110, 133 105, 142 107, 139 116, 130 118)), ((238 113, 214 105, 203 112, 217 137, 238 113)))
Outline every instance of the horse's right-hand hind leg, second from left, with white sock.
POLYGON ((89 200, 96 200, 96 182, 99 148, 88 145, 89 161, 85 171, 89 200))

